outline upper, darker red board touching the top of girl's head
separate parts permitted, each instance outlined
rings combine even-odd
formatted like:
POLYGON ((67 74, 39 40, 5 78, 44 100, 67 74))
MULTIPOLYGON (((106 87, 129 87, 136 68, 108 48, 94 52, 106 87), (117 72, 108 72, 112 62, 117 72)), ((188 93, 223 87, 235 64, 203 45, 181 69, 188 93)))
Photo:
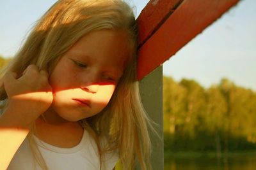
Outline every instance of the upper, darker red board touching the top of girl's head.
POLYGON ((141 45, 156 31, 183 0, 151 0, 138 17, 139 44, 141 45))

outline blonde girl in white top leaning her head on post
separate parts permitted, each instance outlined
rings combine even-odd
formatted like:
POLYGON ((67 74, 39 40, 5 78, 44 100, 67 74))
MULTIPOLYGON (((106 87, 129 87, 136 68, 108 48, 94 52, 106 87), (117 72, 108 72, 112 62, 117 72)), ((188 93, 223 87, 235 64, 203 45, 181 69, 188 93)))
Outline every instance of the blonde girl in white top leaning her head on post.
POLYGON ((149 169, 137 27, 121 0, 60 0, 1 74, 0 169, 149 169))

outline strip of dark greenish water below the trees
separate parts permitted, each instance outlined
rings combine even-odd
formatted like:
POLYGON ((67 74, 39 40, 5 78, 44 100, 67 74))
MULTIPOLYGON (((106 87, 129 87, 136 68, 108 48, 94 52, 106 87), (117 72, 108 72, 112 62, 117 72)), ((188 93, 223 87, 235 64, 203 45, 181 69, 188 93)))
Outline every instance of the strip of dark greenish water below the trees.
POLYGON ((231 157, 217 159, 216 157, 174 158, 164 160, 164 170, 255 170, 255 154, 236 154, 231 157))

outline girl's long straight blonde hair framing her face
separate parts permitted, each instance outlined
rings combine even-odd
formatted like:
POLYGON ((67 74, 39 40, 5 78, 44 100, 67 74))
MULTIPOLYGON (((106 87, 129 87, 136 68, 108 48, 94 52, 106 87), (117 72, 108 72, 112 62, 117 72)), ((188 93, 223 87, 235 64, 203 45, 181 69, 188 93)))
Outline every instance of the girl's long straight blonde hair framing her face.
MULTIPOLYGON (((124 169, 135 169, 136 162, 141 169, 150 169, 151 144, 148 127, 151 125, 143 110, 136 81, 138 31, 133 11, 124 1, 58 1, 38 20, 26 43, 2 71, 0 78, 3 79, 6 71, 14 71, 21 76, 29 64, 36 64, 39 69, 46 69, 51 75, 60 57, 78 39, 89 32, 102 29, 127 32, 131 48, 130 58, 108 106, 80 123, 95 138, 100 162, 104 162, 102 154, 118 149, 124 169), (107 139, 106 147, 100 146, 101 139, 107 139)), ((3 85, 0 87, 0 97, 6 99, 3 85)), ((42 169, 47 169, 31 136, 30 133, 29 143, 35 159, 42 169)))

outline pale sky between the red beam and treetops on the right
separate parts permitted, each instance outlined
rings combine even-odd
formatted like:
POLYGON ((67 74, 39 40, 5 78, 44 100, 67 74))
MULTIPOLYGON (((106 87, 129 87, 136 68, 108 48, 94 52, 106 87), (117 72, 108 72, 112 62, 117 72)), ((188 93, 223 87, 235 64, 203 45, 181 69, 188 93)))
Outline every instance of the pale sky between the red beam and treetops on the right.
POLYGON ((204 87, 228 78, 256 92, 256 1, 243 0, 164 64, 164 74, 204 87))

